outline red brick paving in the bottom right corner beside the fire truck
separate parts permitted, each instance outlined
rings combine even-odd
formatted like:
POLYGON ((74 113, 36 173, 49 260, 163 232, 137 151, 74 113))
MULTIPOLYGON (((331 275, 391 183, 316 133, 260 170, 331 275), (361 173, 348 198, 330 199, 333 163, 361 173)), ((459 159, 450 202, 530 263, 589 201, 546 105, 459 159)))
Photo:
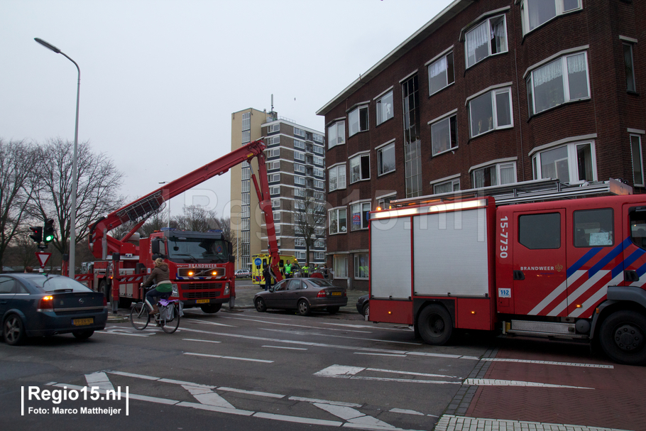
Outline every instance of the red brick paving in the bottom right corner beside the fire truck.
POLYGON ((593 389, 479 386, 466 416, 646 430, 646 367, 613 364, 585 351, 581 354, 581 347, 535 343, 533 349, 528 348, 529 343, 521 342, 520 348, 513 341, 505 343, 496 359, 604 364, 613 368, 493 361, 485 378, 593 389))

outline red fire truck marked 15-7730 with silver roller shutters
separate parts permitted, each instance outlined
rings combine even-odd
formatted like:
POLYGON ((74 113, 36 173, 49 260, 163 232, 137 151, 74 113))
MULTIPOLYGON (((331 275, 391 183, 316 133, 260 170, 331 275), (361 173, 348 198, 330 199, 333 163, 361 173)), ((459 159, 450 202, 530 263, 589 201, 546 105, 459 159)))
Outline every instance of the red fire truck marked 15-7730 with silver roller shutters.
POLYGON ((630 186, 519 182, 368 217, 371 322, 412 325, 434 345, 479 329, 646 364, 646 195, 630 186))

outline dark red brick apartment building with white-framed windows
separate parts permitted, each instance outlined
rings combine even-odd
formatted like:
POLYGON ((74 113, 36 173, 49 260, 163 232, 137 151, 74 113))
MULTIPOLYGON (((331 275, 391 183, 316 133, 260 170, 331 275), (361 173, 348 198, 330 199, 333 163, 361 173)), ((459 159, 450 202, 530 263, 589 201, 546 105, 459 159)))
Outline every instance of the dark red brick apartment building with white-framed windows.
POLYGON ((644 192, 639 16, 644 1, 456 0, 319 109, 335 283, 367 290, 365 214, 390 200, 540 178, 644 192))

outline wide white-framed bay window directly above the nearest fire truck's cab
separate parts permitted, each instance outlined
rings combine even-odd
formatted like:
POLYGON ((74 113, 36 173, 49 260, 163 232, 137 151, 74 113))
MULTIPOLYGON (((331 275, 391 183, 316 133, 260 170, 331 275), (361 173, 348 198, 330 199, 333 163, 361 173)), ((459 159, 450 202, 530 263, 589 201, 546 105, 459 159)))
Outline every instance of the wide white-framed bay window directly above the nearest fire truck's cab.
POLYGON ((534 179, 552 178, 569 184, 596 181, 594 144, 569 143, 537 153, 532 159, 534 179))

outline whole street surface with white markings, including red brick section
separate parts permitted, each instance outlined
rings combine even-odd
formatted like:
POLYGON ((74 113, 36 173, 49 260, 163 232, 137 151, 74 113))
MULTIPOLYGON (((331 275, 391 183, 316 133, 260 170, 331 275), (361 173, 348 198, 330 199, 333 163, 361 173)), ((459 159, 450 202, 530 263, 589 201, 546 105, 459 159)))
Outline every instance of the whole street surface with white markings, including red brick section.
POLYGON ((236 287, 234 310, 185 310, 175 334, 111 320, 85 342, 0 343, 0 424, 439 431, 471 420, 473 429, 644 429, 646 369, 616 366, 585 346, 474 333, 432 347, 408 327, 364 322, 354 309, 360 293, 336 315, 302 317, 256 312, 258 289, 236 287), (44 399, 44 391, 58 392, 44 399))

